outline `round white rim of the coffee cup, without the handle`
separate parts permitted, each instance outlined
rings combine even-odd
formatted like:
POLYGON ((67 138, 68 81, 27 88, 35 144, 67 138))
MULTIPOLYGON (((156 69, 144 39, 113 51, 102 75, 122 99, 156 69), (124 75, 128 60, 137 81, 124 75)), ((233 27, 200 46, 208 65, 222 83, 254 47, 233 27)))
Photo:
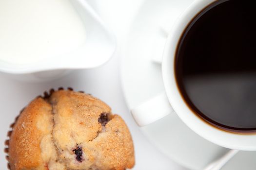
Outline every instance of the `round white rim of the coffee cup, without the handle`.
POLYGON ((256 134, 246 135, 226 132, 218 129, 217 127, 213 127, 202 119, 199 119, 183 101, 177 87, 174 72, 174 59, 179 39, 190 21, 202 9, 215 1, 216 0, 195 0, 192 2, 192 4, 177 19, 173 28, 169 32, 162 61, 162 76, 165 91, 169 102, 179 118, 199 136, 225 148, 256 151, 256 134))

